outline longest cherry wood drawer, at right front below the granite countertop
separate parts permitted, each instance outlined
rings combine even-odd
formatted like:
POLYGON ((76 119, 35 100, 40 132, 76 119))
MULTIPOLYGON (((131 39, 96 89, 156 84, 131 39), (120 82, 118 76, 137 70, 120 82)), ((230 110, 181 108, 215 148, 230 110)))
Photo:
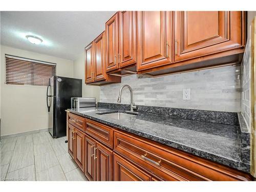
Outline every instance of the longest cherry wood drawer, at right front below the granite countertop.
POLYGON ((114 151, 167 181, 249 180, 237 170, 116 130, 114 151))

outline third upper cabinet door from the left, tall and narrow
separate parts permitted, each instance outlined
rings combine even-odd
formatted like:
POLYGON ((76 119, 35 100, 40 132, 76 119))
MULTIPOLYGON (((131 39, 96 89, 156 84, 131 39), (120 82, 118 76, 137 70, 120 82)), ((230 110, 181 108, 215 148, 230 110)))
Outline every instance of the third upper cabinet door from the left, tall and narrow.
POLYGON ((118 13, 105 25, 106 36, 106 71, 118 69, 118 13))

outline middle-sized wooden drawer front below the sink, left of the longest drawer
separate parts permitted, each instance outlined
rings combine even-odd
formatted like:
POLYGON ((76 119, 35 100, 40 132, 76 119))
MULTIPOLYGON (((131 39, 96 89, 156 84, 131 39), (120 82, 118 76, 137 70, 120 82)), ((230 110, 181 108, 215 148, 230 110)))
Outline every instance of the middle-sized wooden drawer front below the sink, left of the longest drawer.
POLYGON ((86 133, 113 149, 112 127, 86 119, 86 133))

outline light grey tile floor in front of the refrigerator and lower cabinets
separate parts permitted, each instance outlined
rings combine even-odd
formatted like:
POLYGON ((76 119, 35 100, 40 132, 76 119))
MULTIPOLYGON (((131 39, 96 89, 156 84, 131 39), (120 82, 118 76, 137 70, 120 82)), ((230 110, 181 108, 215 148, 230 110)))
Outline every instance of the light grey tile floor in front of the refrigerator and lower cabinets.
POLYGON ((1 181, 87 181, 65 140, 49 132, 1 139, 1 181))

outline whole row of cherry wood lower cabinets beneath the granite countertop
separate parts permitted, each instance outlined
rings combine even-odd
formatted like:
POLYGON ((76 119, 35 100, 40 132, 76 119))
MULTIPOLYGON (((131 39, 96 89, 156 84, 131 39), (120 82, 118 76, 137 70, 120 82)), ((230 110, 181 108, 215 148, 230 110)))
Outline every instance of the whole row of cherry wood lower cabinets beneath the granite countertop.
POLYGON ((99 122, 84 121, 82 130, 87 130, 85 126, 88 128, 90 125, 94 128, 91 132, 97 134, 89 136, 91 132, 81 131, 81 127, 77 129, 67 119, 68 152, 89 181, 252 180, 249 174, 237 169, 99 122), (113 137, 110 137, 112 139, 107 139, 110 142, 98 136, 99 133, 105 133, 103 130, 114 132, 113 137))

